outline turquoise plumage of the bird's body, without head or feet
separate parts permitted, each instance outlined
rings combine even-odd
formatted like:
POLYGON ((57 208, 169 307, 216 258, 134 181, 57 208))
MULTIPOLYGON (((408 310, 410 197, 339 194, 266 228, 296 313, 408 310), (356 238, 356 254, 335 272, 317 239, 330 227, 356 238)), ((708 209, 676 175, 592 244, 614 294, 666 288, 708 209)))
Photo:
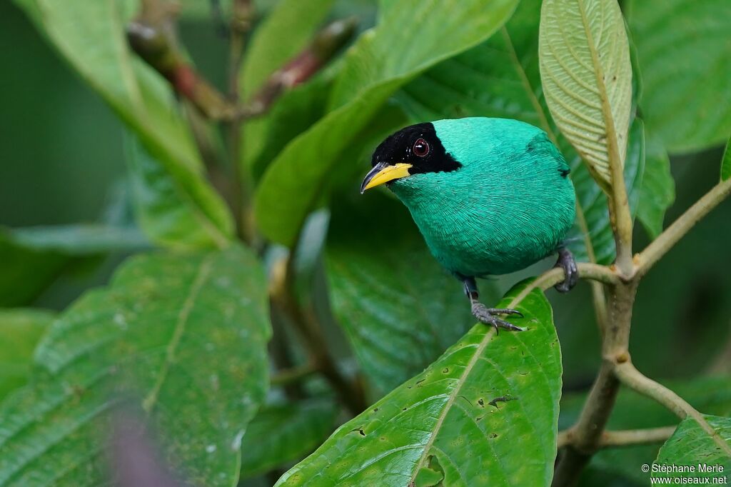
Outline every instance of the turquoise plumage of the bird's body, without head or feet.
POLYGON ((569 166, 541 129, 504 118, 433 122, 459 170, 390 189, 436 260, 462 276, 504 274, 553 254, 574 222, 569 166))

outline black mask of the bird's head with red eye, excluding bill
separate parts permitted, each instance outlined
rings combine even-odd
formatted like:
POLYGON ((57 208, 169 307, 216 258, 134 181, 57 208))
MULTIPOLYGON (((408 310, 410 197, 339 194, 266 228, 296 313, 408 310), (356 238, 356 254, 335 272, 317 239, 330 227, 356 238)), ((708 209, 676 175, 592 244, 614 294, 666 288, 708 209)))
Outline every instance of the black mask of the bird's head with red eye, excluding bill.
POLYGON ((371 166, 375 167, 379 162, 410 164, 409 174, 439 173, 462 167, 447 154, 431 122, 410 125, 386 137, 376 147, 371 166))

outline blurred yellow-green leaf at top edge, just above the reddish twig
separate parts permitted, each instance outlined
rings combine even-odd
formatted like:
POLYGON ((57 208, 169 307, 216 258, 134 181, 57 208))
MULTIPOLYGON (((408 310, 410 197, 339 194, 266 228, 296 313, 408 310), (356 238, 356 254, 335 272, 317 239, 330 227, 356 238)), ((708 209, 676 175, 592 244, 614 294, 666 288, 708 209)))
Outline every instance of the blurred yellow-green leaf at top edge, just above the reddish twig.
POLYGON ((281 0, 254 31, 240 71, 247 94, 261 88, 269 75, 300 53, 333 7, 334 0, 281 0))

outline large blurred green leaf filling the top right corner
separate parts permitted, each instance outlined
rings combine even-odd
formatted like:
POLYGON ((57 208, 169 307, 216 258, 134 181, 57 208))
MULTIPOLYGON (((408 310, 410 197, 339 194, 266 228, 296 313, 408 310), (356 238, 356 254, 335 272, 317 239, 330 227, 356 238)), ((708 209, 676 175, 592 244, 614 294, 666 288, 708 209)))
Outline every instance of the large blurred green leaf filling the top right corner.
POLYGON ((637 45, 648 129, 671 154, 698 151, 731 132, 731 4, 725 0, 626 2, 637 45))

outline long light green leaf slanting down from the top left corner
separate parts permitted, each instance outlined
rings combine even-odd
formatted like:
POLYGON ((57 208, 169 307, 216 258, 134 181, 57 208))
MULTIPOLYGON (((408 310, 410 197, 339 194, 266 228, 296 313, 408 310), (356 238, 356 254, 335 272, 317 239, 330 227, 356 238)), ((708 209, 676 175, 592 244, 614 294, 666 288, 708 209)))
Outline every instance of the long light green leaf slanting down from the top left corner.
MULTIPOLYGON (((196 205, 211 233, 206 244, 227 241, 233 224, 221 198, 203 177, 203 167, 185 122, 176 116, 167 82, 135 58, 124 37, 135 0, 16 0, 38 28, 137 135, 151 164, 171 178, 196 205)), ((156 235, 152 235, 155 237, 156 235)))

